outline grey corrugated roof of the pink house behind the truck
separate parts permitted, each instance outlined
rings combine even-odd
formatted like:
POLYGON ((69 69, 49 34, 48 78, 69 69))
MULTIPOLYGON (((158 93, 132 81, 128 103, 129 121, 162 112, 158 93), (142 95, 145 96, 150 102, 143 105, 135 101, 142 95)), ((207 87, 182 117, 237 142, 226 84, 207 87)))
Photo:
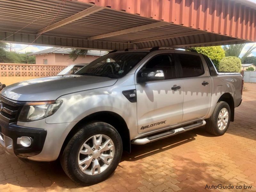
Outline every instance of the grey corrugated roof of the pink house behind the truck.
MULTIPOLYGON (((48 53, 61 53, 61 54, 69 54, 71 53, 73 49, 72 48, 61 48, 61 47, 52 47, 49 49, 44 49, 42 51, 30 53, 28 55, 42 55, 42 54, 48 54, 48 53)), ((106 55, 107 51, 100 51, 100 50, 88 50, 86 55, 93 55, 93 56, 103 56, 106 55)))

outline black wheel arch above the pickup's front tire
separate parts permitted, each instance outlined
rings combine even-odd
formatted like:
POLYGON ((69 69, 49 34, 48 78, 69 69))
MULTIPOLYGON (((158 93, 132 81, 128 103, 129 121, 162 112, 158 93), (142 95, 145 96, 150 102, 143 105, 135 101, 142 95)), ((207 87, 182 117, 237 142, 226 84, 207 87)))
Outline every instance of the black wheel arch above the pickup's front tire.
MULTIPOLYGON (((119 114, 111 111, 100 111, 96 113, 92 113, 83 119, 81 119, 77 124, 70 130, 68 136, 62 144, 61 153, 68 144, 68 141, 73 137, 73 135, 78 131, 79 127, 84 124, 89 124, 93 122, 105 122, 118 131, 121 136, 123 142, 123 150, 130 153, 131 152, 131 140, 130 140, 130 131, 127 127, 124 118, 119 114)), ((60 153, 60 154, 61 154, 60 153)))

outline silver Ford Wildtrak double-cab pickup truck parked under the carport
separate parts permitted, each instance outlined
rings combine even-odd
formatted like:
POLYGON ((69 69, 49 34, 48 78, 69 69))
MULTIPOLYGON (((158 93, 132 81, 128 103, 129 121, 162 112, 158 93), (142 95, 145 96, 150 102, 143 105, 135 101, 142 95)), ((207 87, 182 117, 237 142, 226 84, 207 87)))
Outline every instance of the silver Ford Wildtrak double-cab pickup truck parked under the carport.
POLYGON ((196 52, 115 50, 75 74, 5 87, 0 144, 20 158, 60 158, 72 180, 93 184, 115 171, 131 144, 204 125, 223 135, 242 91, 241 74, 219 73, 196 52))

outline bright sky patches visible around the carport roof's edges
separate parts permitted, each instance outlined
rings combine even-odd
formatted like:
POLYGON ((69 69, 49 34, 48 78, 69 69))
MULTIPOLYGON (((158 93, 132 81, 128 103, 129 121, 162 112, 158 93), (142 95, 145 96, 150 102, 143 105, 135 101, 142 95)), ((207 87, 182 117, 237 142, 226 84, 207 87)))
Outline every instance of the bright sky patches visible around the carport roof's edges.
MULTIPOLYGON (((252 1, 254 3, 256 3, 256 0, 248 0, 248 1, 252 1)), ((241 52, 240 57, 252 46, 252 45, 256 46, 256 43, 248 43, 244 46, 243 51, 241 52)), ((36 46, 36 45, 25 45, 25 44, 12 44, 13 49, 16 52, 20 52, 20 53, 25 53, 25 52, 37 52, 37 51, 41 51, 44 49, 49 49, 51 48, 50 46, 36 46)), ((256 49, 254 49, 252 51, 252 54, 250 56, 256 56, 256 49)))

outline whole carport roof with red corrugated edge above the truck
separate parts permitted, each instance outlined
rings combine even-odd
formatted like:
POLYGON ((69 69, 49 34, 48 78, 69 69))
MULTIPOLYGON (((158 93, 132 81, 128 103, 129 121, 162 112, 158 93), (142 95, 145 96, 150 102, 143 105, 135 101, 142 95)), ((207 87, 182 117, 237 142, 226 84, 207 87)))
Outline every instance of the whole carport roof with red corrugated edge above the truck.
POLYGON ((255 21, 256 6, 247 0, 0 0, 0 40, 57 47, 255 42, 255 21))

